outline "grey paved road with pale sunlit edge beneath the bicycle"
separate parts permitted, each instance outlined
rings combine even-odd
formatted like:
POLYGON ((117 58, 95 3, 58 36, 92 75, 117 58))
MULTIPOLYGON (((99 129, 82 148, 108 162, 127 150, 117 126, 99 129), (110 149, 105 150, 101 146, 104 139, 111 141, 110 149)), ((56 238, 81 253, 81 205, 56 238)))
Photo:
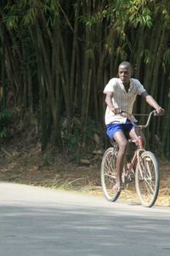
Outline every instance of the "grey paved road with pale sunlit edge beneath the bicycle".
POLYGON ((0 183, 0 256, 170 255, 170 208, 0 183))

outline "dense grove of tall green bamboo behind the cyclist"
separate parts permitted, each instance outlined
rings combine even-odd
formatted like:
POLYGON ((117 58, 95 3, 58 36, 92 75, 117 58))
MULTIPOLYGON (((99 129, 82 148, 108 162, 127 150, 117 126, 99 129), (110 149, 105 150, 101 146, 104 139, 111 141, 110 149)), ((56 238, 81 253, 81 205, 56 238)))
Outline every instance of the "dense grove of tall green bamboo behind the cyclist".
MULTIPOLYGON (((3 0, 0 19, 1 137, 13 120, 42 151, 105 147, 102 91, 127 60, 165 108, 148 147, 170 156, 169 0, 3 0)), ((134 112, 150 107, 138 99, 134 112)))

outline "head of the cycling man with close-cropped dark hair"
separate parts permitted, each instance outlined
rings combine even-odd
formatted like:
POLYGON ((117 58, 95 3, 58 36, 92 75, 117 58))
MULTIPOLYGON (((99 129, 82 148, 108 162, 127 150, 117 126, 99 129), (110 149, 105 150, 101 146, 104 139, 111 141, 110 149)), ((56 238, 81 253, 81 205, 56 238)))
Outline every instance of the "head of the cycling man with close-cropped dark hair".
POLYGON ((123 84, 129 84, 133 74, 133 68, 130 62, 123 61, 118 67, 118 77, 122 80, 123 84))

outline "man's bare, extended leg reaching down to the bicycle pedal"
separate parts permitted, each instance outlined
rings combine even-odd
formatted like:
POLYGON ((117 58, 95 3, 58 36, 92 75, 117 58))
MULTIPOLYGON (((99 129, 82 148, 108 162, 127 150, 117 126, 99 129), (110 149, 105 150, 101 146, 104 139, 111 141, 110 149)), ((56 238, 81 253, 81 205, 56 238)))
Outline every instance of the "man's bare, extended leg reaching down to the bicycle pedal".
POLYGON ((127 151, 127 138, 122 131, 116 131, 114 139, 118 145, 118 152, 116 155, 116 185, 113 187, 115 191, 121 191, 122 186, 122 168, 124 163, 124 158, 127 151))

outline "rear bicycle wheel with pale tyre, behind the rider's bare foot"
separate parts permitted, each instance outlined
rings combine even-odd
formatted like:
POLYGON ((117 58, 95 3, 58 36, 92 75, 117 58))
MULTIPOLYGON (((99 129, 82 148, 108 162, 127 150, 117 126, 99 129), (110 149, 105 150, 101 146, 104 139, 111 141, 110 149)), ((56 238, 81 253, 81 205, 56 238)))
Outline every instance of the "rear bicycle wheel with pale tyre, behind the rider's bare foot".
POLYGON ((113 190, 113 186, 116 184, 116 150, 114 148, 108 148, 105 151, 101 163, 100 177, 105 198, 108 201, 116 201, 121 192, 113 190))

